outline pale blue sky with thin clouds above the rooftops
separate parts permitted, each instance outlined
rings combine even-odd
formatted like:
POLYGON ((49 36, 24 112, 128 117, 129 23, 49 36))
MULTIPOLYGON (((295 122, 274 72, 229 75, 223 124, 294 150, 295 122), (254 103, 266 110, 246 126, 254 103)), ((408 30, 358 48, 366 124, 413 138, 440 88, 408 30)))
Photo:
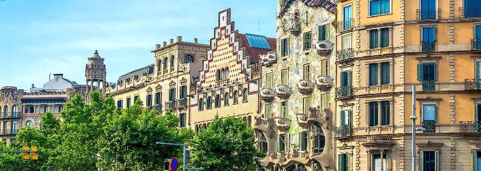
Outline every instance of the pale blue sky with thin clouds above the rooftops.
POLYGON ((155 44, 214 37, 218 12, 231 8, 240 33, 276 36, 277 0, 3 0, 0 1, 0 86, 28 89, 49 73, 85 84, 95 50, 107 82, 154 63, 155 44))

